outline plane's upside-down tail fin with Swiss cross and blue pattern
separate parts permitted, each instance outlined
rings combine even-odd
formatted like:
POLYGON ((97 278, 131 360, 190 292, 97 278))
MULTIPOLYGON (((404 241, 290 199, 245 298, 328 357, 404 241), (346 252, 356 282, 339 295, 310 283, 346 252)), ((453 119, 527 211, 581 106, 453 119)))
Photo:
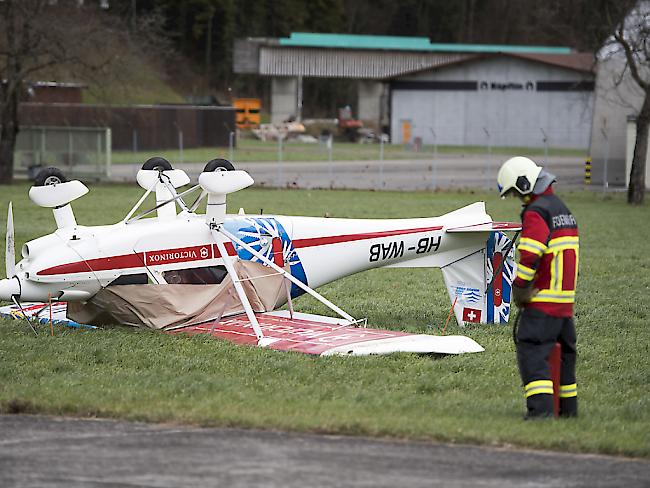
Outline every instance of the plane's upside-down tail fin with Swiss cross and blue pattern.
POLYGON ((506 323, 516 263, 511 240, 490 232, 483 249, 442 267, 459 324, 506 323))

